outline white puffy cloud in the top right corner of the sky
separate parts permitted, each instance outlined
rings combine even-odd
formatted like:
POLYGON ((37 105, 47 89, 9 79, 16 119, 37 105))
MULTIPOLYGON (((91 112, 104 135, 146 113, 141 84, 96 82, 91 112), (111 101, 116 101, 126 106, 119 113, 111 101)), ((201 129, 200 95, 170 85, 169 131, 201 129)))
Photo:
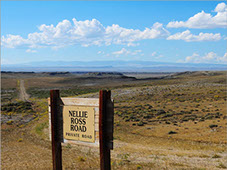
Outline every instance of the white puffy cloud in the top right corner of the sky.
POLYGON ((212 16, 209 13, 201 11, 190 17, 187 21, 172 21, 167 24, 168 28, 227 28, 227 5, 219 3, 214 12, 217 14, 212 16))

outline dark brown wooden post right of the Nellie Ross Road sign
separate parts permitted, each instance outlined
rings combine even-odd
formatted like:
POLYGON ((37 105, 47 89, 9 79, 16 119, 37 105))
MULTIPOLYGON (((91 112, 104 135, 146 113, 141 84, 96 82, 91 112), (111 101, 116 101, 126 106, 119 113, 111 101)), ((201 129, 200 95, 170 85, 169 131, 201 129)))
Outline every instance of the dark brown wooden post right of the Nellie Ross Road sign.
MULTIPOLYGON (((109 123, 109 118, 113 116, 108 107, 108 102, 111 102, 111 91, 100 90, 99 92, 99 145, 100 145, 100 169, 110 170, 110 149, 112 149, 113 127, 109 123), (108 124, 109 123, 109 124, 108 124)), ((113 110, 113 108, 112 108, 113 110)), ((113 123, 113 121, 112 121, 113 123)))

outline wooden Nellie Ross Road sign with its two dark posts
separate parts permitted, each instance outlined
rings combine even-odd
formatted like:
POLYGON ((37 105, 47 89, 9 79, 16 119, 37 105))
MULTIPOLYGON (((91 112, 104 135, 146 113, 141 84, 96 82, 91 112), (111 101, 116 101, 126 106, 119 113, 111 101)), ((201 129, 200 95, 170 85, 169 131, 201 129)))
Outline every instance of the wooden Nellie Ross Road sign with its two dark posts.
POLYGON ((114 118, 111 91, 100 90, 99 99, 95 99, 60 98, 59 90, 51 90, 49 109, 54 170, 62 169, 62 142, 99 147, 100 169, 111 169, 114 118))

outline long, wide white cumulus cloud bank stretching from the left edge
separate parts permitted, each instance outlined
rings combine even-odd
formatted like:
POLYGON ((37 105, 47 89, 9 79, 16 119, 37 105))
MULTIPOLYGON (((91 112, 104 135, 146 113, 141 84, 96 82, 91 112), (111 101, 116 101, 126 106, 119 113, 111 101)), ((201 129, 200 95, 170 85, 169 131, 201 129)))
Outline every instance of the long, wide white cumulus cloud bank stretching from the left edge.
POLYGON ((30 33, 27 38, 11 34, 2 36, 2 45, 7 48, 61 48, 77 44, 84 47, 111 44, 136 46, 137 41, 165 38, 169 35, 169 32, 158 22, 151 28, 141 31, 123 28, 117 24, 104 27, 96 19, 77 21, 75 18, 72 19, 72 23, 69 20, 63 20, 56 26, 43 24, 38 29, 39 32, 30 33))

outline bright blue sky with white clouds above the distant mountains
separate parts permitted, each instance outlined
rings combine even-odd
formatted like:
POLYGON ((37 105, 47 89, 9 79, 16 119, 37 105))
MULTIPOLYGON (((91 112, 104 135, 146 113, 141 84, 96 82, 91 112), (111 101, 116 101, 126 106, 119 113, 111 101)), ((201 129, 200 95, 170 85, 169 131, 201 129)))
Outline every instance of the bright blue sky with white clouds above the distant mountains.
POLYGON ((227 63, 225 1, 1 1, 2 64, 227 63))

